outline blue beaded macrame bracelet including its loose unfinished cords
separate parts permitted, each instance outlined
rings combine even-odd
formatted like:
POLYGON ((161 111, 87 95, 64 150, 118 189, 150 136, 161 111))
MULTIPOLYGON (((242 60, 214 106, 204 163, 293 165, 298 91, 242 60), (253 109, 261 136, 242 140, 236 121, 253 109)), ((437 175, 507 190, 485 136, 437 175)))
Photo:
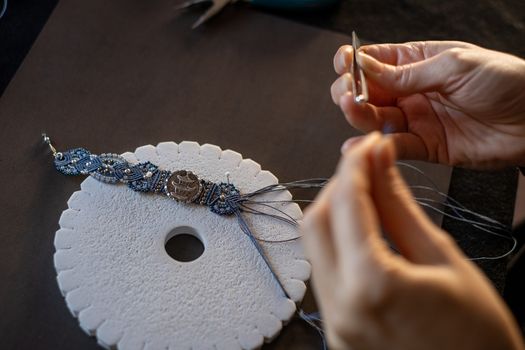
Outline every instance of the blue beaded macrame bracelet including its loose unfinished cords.
MULTIPOLYGON (((260 240, 253 234, 242 212, 265 215, 291 225, 297 225, 295 218, 275 206, 275 204, 279 203, 291 203, 294 200, 259 201, 257 200, 258 196, 294 188, 322 188, 326 184, 327 179, 306 179, 289 183, 278 183, 254 192, 241 194, 233 184, 229 183, 229 179, 228 182, 214 183, 199 179, 197 175, 188 170, 173 172, 162 170, 151 162, 131 164, 118 154, 102 153, 96 155, 85 148, 73 148, 58 152, 46 134, 42 134, 42 137, 53 153, 55 168, 65 175, 90 175, 102 182, 122 182, 137 192, 153 192, 166 195, 178 202, 205 205, 218 215, 235 215, 241 230, 257 249, 283 294, 290 299, 288 292, 259 244, 260 240), (257 206, 265 208, 266 211, 257 209, 257 206)), ((298 238, 299 236, 281 241, 266 242, 288 242, 298 238)))

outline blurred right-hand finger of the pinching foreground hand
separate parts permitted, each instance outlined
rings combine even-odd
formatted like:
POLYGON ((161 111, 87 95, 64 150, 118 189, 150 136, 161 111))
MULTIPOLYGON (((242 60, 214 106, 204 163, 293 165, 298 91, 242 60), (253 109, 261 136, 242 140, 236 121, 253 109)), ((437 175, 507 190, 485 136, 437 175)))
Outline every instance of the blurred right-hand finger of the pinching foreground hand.
POLYGON ((401 177, 392 140, 384 138, 372 157, 372 197, 386 235, 409 261, 442 264, 458 251, 450 236, 435 226, 414 201, 401 177))

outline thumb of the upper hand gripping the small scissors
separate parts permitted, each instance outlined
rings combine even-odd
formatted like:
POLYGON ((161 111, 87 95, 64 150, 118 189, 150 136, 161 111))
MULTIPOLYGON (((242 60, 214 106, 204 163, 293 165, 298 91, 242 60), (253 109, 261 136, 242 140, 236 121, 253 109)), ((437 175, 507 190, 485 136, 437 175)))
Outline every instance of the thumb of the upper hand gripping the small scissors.
POLYGON ((457 61, 451 59, 450 51, 399 66, 380 62, 360 51, 357 53, 357 62, 375 85, 393 95, 407 96, 419 92, 443 91, 446 88, 457 66, 457 61))

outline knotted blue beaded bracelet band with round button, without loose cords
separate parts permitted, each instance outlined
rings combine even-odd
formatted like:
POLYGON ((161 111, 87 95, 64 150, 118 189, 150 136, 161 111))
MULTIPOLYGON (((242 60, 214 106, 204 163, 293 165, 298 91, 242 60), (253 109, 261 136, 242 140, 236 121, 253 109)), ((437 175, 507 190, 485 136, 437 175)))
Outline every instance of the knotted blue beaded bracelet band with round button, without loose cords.
POLYGON ((65 175, 90 175, 107 182, 122 182, 137 192, 166 195, 183 203, 205 205, 218 215, 232 215, 239 210, 241 195, 230 183, 199 179, 188 170, 161 170, 151 162, 131 164, 115 153, 92 154, 85 148, 57 152, 49 137, 55 168, 65 175))

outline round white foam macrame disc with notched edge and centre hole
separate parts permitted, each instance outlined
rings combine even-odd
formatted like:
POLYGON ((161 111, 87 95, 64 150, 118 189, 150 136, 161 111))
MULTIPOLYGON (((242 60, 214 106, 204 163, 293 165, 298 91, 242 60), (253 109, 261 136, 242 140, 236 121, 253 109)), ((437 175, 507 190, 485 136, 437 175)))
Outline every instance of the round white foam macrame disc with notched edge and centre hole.
MULTIPOLYGON (((123 156, 161 169, 190 170, 214 182, 224 182, 229 172, 244 193, 277 183, 253 160, 209 144, 164 142, 123 156)), ((265 196, 291 198, 289 192, 265 196)), ((58 284, 82 329, 106 348, 259 348, 278 335, 305 294, 310 265, 300 242, 261 242, 290 300, 235 217, 91 177, 68 207, 55 236, 58 284), (178 227, 190 227, 203 242, 196 260, 179 262, 166 252, 168 235, 178 227)), ((302 216, 296 204, 280 209, 302 216)), ((279 220, 245 218, 265 240, 298 235, 279 220)))

